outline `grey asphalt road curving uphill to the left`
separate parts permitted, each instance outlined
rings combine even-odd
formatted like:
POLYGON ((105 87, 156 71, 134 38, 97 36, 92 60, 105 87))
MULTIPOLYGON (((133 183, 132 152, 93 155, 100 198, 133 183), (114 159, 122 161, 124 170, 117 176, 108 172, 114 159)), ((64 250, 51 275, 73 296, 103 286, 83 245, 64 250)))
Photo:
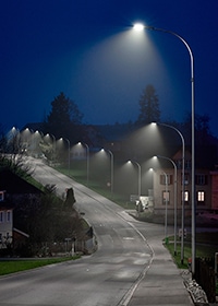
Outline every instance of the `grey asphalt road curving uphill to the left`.
POLYGON ((113 202, 41 161, 32 160, 32 166, 34 177, 44 185, 56 185, 60 196, 73 187, 77 209, 94 227, 98 250, 76 261, 0 278, 0 305, 126 305, 153 260, 145 226, 113 202))

